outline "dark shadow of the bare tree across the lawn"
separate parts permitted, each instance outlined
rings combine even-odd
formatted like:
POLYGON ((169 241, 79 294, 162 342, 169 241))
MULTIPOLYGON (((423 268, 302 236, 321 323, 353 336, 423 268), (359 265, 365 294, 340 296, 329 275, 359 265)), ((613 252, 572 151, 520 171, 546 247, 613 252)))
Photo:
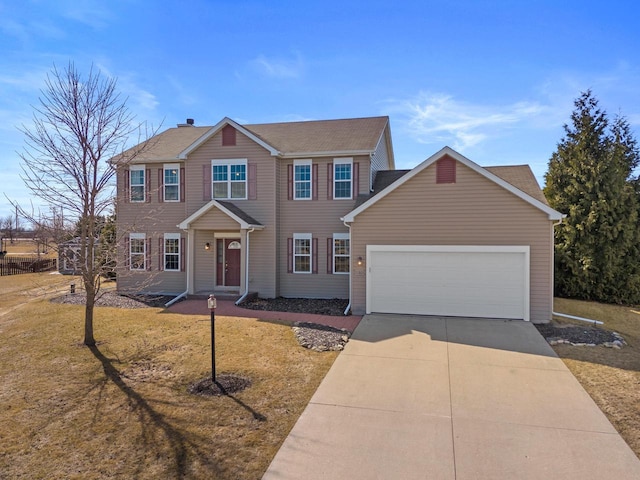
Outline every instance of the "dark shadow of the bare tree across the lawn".
MULTIPOLYGON (((88 348, 102 364, 107 379, 113 382, 127 396, 132 410, 138 413, 138 419, 143 429, 142 437, 145 446, 148 448, 157 446, 157 442, 154 441, 154 429, 162 432, 167 439, 173 455, 173 471, 167 472, 168 476, 183 478, 188 475, 188 456, 190 451, 195 452, 195 455, 199 458, 202 465, 207 467, 211 474, 220 473, 220 469, 213 463, 213 457, 203 452, 198 443, 189 439, 190 436, 193 437, 193 434, 187 434, 171 425, 165 416, 156 411, 140 393, 127 385, 120 371, 114 367, 113 359, 107 358, 97 346, 90 346, 88 348)), ((203 439, 202 443, 206 444, 206 440, 203 439)), ((160 452, 157 453, 159 454, 160 452)), ((143 465, 138 466, 136 476, 142 473, 142 468, 143 465)))

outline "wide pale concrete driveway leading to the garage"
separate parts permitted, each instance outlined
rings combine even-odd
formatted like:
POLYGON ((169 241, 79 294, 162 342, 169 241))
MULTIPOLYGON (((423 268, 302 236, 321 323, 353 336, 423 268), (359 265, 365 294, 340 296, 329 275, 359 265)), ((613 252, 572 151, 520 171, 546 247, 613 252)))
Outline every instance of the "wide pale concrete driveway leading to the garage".
POLYGON ((367 315, 264 479, 640 478, 523 321, 367 315))

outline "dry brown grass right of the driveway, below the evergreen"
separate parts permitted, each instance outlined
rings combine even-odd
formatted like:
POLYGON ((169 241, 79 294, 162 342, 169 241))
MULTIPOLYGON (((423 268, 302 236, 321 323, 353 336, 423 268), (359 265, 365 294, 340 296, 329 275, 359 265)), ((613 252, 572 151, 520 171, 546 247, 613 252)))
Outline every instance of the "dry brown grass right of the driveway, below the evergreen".
POLYGON ((601 320, 605 322, 603 328, 620 333, 627 341, 622 350, 568 345, 553 348, 640 458, 640 309, 562 298, 555 299, 554 308, 601 320))

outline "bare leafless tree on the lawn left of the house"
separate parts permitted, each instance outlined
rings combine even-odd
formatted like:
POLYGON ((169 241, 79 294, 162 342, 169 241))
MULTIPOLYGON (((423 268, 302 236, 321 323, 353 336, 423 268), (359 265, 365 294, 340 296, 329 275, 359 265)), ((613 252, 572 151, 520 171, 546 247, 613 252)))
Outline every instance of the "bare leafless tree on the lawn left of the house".
MULTIPOLYGON (((33 126, 22 128, 26 147, 20 157, 27 188, 51 211, 64 212, 70 224, 79 225, 78 264, 86 292, 84 343, 89 346, 96 343, 93 312, 102 273, 95 252, 97 218, 106 213, 113 197, 115 170, 109 159, 120 155, 122 164, 139 153, 128 150, 129 159, 122 158, 129 136, 139 126, 133 125, 116 83, 93 67, 83 78, 73 63, 63 70, 54 66, 34 108, 33 126)), ((34 225, 43 223, 33 213, 20 211, 34 225)), ((60 227, 58 222, 53 225, 60 227)), ((54 236, 60 238, 60 232, 54 236)))

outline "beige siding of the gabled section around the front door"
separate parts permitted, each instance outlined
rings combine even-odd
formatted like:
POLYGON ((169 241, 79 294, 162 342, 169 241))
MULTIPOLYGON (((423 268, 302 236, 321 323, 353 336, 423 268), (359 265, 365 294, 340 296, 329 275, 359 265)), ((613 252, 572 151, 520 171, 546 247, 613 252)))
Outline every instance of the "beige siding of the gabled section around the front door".
MULTIPOLYGON (((248 215, 264 225, 264 229, 250 235, 250 266, 249 290, 258 292, 262 297, 274 297, 276 286, 276 159, 267 150, 253 142, 240 132, 236 132, 235 146, 222 146, 222 133, 218 132, 197 150, 189 155, 186 167, 188 215, 196 212, 208 203, 203 199, 203 166, 210 168, 211 160, 246 158, 248 164, 256 165, 257 197, 255 200, 229 200, 248 215), (190 187, 190 188, 189 188, 190 187)), ((184 220, 184 219, 183 219, 184 220)), ((215 281, 215 264, 199 264, 201 248, 206 241, 213 245, 213 235, 216 231, 240 231, 240 226, 233 219, 213 208, 201 219, 194 222, 194 228, 206 229, 210 240, 204 240, 204 231, 198 232, 195 243, 194 288, 196 290, 212 288, 215 281), (204 243, 203 243, 204 242, 204 243), (211 269, 209 275, 207 269, 211 269)), ((243 235, 244 236, 244 235, 243 235)), ((207 238, 209 238, 207 237, 207 238)), ((243 249, 244 257, 244 249, 243 249)), ((244 262, 244 258, 243 258, 244 262)), ((244 263, 243 263, 244 264, 244 263)), ((244 271, 244 270, 243 270, 244 271)), ((244 277, 243 277, 244 278, 244 277)), ((244 281, 241 289, 244 288, 244 281)))

